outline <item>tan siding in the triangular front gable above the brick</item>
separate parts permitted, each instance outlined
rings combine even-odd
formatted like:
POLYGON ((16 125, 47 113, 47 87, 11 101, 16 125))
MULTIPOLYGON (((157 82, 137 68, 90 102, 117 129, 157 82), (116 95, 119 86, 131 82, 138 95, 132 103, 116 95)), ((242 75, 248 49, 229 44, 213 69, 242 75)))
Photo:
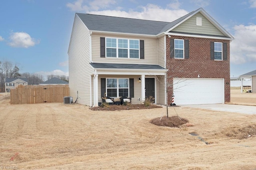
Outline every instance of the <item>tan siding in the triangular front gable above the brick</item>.
POLYGON ((172 29, 172 31, 224 36, 224 34, 210 23, 210 21, 207 20, 200 12, 172 29), (196 25, 196 17, 202 18, 202 26, 196 25))

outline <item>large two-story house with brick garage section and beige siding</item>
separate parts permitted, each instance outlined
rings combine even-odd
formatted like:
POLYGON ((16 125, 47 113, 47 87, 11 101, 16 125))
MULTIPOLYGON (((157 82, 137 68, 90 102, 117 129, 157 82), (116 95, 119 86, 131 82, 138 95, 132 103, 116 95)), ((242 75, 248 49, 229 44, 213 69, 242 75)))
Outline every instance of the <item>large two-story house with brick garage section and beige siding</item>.
POLYGON ((170 104, 173 93, 178 105, 230 102, 233 39, 202 8, 173 22, 76 13, 70 96, 88 106, 98 106, 105 93, 132 104, 148 96, 170 104))

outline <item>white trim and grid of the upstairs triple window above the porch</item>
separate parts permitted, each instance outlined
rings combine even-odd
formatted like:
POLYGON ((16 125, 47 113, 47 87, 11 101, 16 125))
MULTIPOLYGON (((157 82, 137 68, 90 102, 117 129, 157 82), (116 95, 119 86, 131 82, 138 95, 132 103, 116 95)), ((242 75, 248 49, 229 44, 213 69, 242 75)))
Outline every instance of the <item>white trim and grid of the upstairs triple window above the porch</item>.
POLYGON ((140 39, 129 39, 129 38, 114 38, 114 37, 105 37, 105 56, 106 58, 120 58, 120 59, 140 59, 140 39), (107 39, 116 39, 116 47, 107 47, 107 39), (118 47, 118 39, 127 39, 128 40, 128 48, 119 48, 118 47), (130 48, 130 40, 136 40, 138 41, 138 49, 133 49, 133 48, 130 48), (110 49, 116 49, 116 57, 107 57, 107 48, 110 48, 110 49), (127 49, 127 53, 128 53, 128 57, 125 58, 125 57, 118 57, 118 49, 127 49), (138 50, 138 58, 130 58, 130 50, 138 50))

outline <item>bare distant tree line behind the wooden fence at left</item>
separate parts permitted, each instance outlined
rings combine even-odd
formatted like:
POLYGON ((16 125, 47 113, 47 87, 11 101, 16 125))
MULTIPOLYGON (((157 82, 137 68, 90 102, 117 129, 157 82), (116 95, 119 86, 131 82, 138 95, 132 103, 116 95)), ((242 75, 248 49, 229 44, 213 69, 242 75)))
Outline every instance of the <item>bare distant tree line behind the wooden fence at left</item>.
MULTIPOLYGON (((5 78, 27 78, 29 85, 38 85, 44 81, 44 76, 36 73, 24 72, 20 73, 20 68, 17 64, 12 63, 11 61, 0 61, 0 91, 5 92, 5 78)), ((47 75, 47 80, 56 77, 61 80, 68 82, 68 76, 59 76, 59 75, 47 75)))

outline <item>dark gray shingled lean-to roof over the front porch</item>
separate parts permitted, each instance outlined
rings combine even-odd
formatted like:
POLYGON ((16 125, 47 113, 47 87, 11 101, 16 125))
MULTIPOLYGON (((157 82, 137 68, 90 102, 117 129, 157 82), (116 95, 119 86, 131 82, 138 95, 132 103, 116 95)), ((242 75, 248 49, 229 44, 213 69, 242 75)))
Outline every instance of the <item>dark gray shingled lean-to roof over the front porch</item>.
POLYGON ((123 68, 123 69, 152 69, 152 70, 166 70, 160 65, 149 64, 113 64, 113 63, 90 63, 93 68, 123 68))

